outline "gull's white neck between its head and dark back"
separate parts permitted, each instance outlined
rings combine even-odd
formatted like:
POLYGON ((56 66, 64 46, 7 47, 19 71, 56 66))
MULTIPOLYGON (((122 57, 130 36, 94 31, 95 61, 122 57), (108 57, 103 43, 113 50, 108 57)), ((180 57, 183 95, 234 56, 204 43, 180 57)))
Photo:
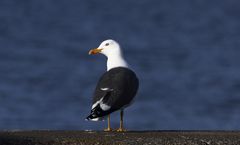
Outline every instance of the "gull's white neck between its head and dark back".
POLYGON ((124 60, 122 54, 114 54, 114 55, 107 56, 107 71, 115 67, 128 68, 128 64, 124 60))

